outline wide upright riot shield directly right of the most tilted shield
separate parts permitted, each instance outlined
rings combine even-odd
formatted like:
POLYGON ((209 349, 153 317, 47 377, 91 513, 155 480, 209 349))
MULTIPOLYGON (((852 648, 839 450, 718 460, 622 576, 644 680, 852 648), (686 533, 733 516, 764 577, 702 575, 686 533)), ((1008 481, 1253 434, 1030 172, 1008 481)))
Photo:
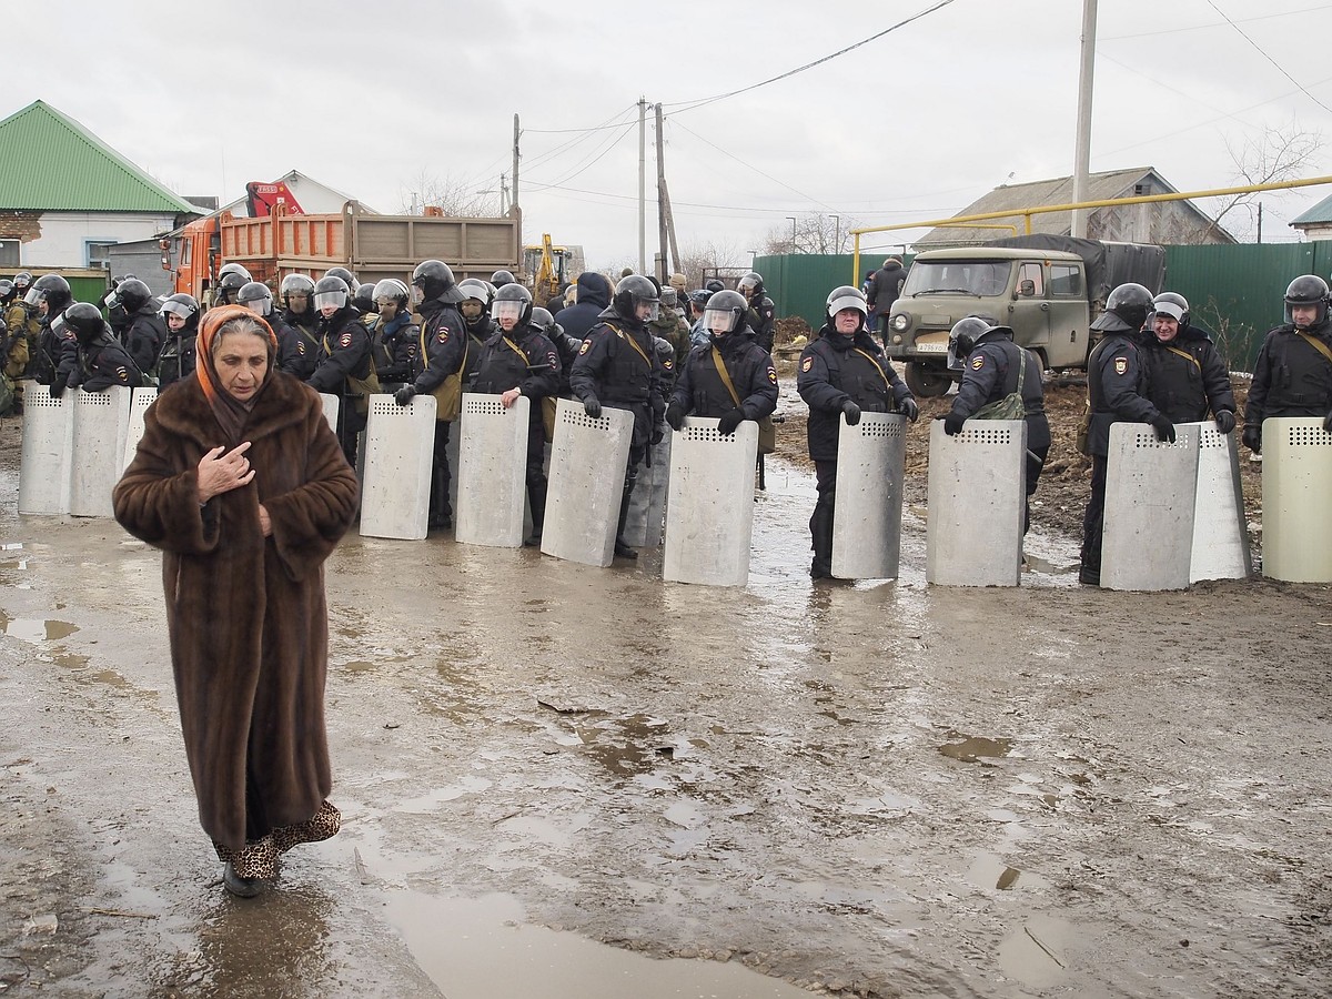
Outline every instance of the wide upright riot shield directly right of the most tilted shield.
POLYGON ((662 578, 709 586, 749 582, 758 424, 723 437, 717 420, 689 417, 671 434, 662 578))

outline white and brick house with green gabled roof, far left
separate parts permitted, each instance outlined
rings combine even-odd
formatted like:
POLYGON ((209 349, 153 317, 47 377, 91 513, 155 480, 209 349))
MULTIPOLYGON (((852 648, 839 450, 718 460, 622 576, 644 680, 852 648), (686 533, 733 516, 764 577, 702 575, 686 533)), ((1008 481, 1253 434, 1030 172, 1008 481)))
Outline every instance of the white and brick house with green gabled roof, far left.
POLYGON ((202 214, 45 101, 0 121, 0 163, 4 270, 107 266, 109 246, 202 214))

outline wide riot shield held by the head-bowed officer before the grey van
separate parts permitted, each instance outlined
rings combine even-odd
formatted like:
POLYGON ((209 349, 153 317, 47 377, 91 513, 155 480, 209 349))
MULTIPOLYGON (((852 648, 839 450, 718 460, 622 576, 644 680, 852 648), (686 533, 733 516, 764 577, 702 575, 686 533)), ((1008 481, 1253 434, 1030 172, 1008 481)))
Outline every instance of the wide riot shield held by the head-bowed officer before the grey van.
POLYGON ((1016 586, 1026 493, 1026 420, 968 420, 954 437, 932 421, 926 582, 1016 586))

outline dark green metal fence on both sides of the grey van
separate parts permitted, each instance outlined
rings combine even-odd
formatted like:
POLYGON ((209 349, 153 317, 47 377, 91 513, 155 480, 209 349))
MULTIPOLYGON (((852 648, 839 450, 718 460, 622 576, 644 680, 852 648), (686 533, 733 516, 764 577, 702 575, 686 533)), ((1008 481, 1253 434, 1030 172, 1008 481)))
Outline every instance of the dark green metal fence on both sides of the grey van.
MULTIPOLYGON (((801 316, 818 329, 829 292, 851 282, 852 260, 850 253, 786 254, 758 257, 754 269, 779 317, 801 316)), ((882 262, 862 254, 855 284, 882 262)), ((1188 298, 1232 370, 1252 370, 1263 336, 1283 322, 1285 286, 1300 274, 1332 274, 1332 241, 1166 248, 1166 288, 1188 298)))

